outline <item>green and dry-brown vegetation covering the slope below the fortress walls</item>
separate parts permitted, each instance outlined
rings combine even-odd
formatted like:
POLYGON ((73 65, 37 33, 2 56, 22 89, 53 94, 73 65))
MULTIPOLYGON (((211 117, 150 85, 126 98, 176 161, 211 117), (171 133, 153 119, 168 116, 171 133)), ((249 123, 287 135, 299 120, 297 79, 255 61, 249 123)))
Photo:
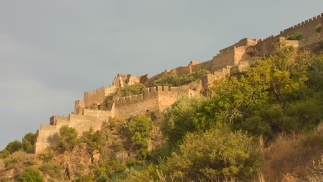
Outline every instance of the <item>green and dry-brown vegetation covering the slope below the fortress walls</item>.
POLYGON ((18 180, 29 165, 52 181, 252 181, 257 171, 271 181, 320 180, 311 170, 322 163, 311 161, 323 154, 322 65, 322 54, 282 48, 239 77, 215 81, 211 98, 179 99, 162 121, 110 119, 80 138, 63 127, 56 147, 38 156, 14 142, 1 152, 1 180, 18 180), (150 151, 163 140, 159 126, 165 142, 150 151))

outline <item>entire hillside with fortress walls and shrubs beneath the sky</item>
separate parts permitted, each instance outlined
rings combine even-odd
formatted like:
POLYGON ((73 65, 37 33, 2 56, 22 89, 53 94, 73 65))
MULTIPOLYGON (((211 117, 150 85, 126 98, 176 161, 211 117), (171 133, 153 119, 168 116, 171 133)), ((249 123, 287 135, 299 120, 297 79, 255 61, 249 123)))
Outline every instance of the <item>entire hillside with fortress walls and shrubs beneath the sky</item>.
POLYGON ((9 143, 0 181, 321 181, 322 24, 151 78, 118 74, 9 143))

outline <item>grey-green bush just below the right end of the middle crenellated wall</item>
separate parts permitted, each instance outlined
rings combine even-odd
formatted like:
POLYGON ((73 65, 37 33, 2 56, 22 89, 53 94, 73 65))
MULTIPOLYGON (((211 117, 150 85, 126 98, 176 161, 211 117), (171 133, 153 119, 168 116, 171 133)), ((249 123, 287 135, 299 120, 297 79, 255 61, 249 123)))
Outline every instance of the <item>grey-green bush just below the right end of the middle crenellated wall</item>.
POLYGON ((163 112, 164 121, 161 123, 161 132, 168 138, 171 147, 175 148, 187 132, 197 130, 192 116, 202 101, 196 97, 183 97, 163 112))

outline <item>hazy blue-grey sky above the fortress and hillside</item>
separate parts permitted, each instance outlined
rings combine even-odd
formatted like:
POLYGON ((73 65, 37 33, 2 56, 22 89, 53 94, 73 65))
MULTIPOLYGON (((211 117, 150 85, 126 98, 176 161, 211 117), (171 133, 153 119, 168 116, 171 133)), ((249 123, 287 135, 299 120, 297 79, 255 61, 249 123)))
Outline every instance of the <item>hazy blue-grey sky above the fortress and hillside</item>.
POLYGON ((322 12, 323 1, 0 0, 0 150, 117 73, 208 61, 322 12), (310 3, 311 2, 311 3, 310 3))

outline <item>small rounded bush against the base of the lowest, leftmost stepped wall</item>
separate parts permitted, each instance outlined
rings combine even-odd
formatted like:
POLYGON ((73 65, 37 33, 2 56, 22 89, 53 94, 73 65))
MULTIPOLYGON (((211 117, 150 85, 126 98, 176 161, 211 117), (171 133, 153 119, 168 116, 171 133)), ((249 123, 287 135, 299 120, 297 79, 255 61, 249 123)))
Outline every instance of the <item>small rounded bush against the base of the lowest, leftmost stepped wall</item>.
POLYGON ((77 130, 63 125, 59 128, 59 148, 61 150, 72 150, 75 145, 79 144, 79 138, 77 137, 77 130))

